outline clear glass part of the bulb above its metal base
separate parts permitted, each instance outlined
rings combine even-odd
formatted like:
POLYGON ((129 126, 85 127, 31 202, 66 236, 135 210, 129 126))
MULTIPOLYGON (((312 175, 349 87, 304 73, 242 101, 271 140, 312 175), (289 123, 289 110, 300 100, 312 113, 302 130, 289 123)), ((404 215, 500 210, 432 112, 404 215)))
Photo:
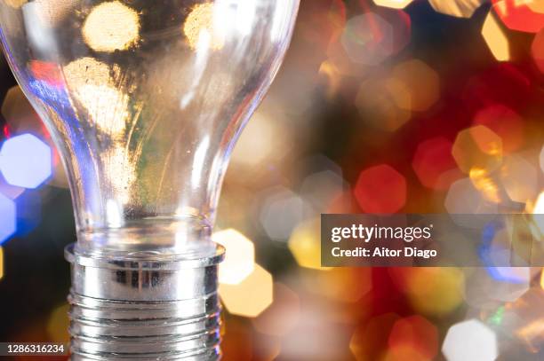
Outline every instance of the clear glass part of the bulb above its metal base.
POLYGON ((298 3, 0 0, 7 59, 68 172, 77 252, 212 250, 229 154, 298 3))

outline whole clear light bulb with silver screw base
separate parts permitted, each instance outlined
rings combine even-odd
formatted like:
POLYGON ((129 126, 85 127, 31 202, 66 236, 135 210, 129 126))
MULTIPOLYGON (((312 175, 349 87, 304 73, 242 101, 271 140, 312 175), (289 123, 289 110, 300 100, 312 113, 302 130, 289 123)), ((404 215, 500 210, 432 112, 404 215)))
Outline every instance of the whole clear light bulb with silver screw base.
POLYGON ((218 357, 220 184, 298 6, 0 0, 6 58, 68 173, 75 359, 218 357))

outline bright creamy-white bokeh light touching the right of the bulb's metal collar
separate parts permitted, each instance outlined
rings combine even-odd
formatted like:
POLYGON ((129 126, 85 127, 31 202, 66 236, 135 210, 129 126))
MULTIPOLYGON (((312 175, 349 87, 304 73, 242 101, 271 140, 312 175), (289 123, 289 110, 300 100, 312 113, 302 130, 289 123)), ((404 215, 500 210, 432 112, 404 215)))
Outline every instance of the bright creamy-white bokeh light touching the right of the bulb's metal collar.
POLYGON ((244 234, 233 229, 215 232, 212 240, 225 247, 225 260, 220 263, 220 283, 237 285, 255 268, 255 247, 244 234))

